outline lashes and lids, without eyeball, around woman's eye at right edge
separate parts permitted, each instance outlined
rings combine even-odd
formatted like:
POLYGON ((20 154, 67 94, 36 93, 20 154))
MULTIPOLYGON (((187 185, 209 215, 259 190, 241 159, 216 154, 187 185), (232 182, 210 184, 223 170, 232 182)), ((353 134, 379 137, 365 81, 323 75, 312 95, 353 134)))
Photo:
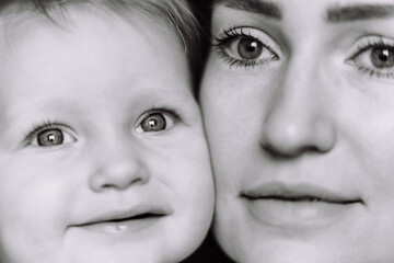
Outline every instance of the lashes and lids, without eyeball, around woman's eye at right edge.
POLYGON ((359 44, 356 45, 356 50, 352 50, 352 55, 349 59, 347 59, 347 61, 350 61, 357 70, 359 70, 363 75, 368 75, 371 78, 394 79, 394 68, 392 68, 391 72, 384 72, 384 69, 370 69, 356 62, 356 58, 372 48, 387 48, 394 50, 394 41, 385 39, 382 36, 367 36, 366 38, 362 38, 359 44))

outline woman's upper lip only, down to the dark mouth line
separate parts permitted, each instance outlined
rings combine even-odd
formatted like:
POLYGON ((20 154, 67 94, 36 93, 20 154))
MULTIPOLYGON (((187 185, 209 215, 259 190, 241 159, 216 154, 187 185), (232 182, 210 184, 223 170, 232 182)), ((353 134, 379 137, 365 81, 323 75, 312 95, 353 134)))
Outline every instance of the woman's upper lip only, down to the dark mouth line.
POLYGON ((332 204, 354 204, 363 201, 348 193, 338 193, 311 184, 265 183, 241 193, 247 199, 277 199, 283 202, 325 202, 332 204))

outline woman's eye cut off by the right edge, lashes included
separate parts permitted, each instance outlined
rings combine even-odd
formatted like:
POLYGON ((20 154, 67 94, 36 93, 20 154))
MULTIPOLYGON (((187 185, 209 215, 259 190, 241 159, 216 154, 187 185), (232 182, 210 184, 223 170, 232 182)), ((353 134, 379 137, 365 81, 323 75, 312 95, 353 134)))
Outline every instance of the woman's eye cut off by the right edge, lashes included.
POLYGON ((378 36, 361 39, 349 60, 371 77, 394 78, 394 42, 378 36))

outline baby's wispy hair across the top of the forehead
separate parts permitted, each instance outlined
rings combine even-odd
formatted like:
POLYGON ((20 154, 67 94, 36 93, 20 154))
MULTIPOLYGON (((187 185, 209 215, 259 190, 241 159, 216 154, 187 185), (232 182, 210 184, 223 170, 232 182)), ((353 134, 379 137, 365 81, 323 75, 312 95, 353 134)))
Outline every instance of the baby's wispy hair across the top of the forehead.
MULTIPOLYGON (((147 10, 138 7, 117 10, 104 3, 99 3, 99 1, 95 4, 91 4, 88 1, 71 1, 66 5, 40 9, 32 2, 20 4, 18 1, 14 1, 1 7, 0 36, 2 39, 5 39, 8 44, 14 45, 32 31, 37 32, 40 28, 56 28, 67 32, 81 25, 80 21, 78 21, 78 19, 76 20, 76 16, 81 14, 85 16, 89 15, 91 23, 95 23, 94 21, 102 19, 107 26, 114 24, 113 21, 123 20, 131 26, 143 28, 149 27, 146 26, 149 24, 166 32, 174 32, 174 28, 160 21, 161 18, 155 15, 154 12, 147 13, 147 10)), ((90 22, 88 21, 88 23, 90 22)))

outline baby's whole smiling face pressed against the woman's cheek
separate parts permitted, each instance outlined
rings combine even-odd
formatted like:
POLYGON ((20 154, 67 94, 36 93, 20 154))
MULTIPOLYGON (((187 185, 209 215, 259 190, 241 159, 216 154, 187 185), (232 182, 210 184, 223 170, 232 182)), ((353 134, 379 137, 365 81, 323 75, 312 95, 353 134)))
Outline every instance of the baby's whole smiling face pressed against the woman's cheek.
POLYGON ((1 262, 178 262, 209 228, 181 42, 95 12, 69 10, 66 28, 11 23, 1 38, 1 262))

